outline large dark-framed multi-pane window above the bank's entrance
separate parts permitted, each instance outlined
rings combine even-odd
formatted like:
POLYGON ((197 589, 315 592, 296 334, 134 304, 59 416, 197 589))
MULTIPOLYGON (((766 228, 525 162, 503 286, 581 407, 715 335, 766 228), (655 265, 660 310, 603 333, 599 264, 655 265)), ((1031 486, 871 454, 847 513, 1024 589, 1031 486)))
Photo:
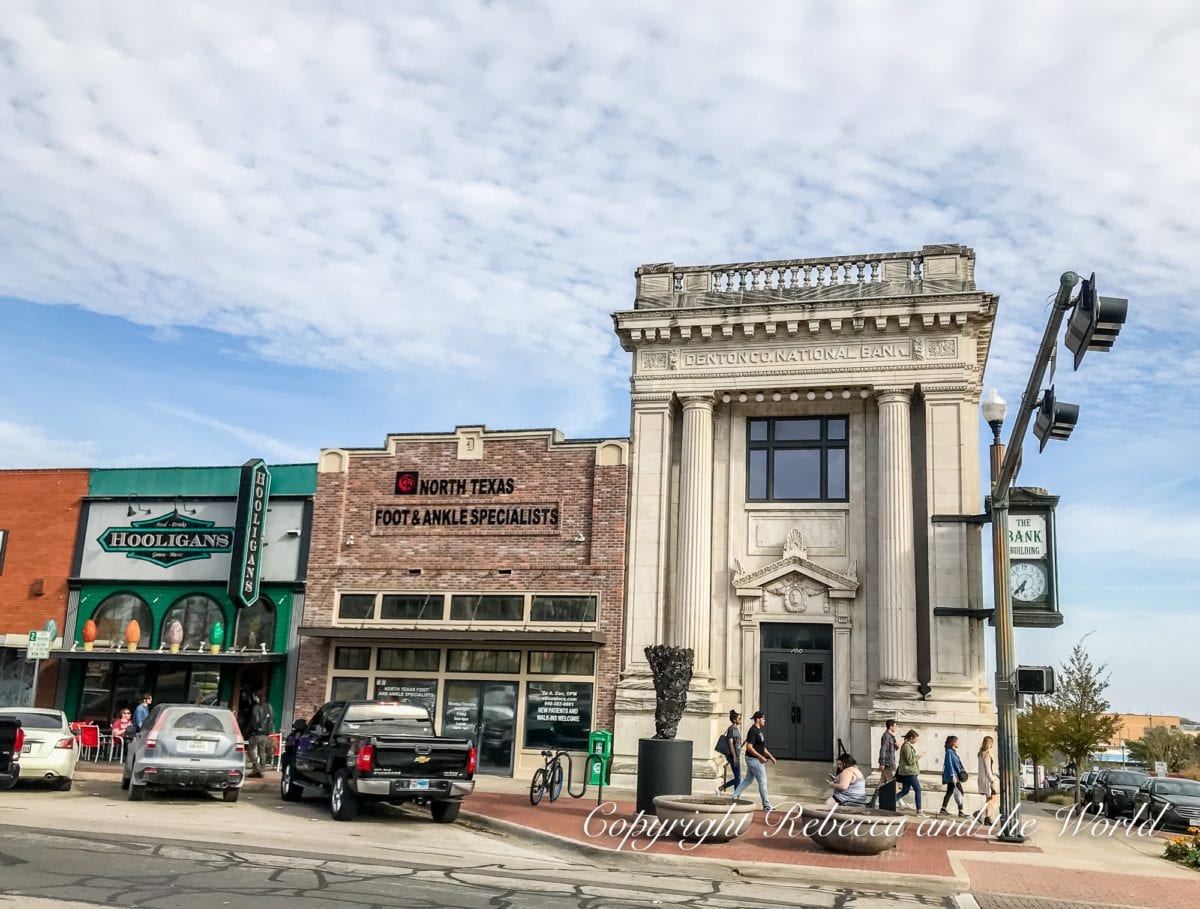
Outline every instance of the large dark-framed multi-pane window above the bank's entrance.
POLYGON ((746 501, 846 501, 850 420, 746 421, 746 501))

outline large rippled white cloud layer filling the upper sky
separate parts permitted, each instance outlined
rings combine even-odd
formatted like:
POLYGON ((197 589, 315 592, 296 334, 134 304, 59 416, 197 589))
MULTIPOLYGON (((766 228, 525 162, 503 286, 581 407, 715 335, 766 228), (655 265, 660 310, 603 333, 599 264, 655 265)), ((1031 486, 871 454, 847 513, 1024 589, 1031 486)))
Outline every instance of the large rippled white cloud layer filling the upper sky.
POLYGON ((1200 324, 1190 5, 115 8, 0 23, 0 293, 584 431, 643 260, 971 243, 1001 381, 1064 267, 1200 324))

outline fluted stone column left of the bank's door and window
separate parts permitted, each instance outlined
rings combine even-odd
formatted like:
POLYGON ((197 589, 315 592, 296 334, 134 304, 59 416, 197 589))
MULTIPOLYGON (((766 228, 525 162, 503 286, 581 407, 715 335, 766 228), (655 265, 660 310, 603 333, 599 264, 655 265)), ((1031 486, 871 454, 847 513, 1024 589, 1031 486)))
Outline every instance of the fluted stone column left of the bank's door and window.
POLYGON ((679 457, 679 589, 673 643, 691 648, 708 675, 713 590, 713 397, 683 396, 679 457))

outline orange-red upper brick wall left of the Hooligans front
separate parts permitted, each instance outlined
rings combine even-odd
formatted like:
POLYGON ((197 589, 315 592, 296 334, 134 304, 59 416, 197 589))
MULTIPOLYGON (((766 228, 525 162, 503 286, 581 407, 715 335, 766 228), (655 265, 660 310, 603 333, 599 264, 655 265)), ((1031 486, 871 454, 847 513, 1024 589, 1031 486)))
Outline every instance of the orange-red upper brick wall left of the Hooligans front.
POLYGON ((62 633, 67 576, 88 494, 86 470, 0 470, 0 633, 28 633, 54 619, 62 633), (42 592, 35 583, 42 580, 42 592))

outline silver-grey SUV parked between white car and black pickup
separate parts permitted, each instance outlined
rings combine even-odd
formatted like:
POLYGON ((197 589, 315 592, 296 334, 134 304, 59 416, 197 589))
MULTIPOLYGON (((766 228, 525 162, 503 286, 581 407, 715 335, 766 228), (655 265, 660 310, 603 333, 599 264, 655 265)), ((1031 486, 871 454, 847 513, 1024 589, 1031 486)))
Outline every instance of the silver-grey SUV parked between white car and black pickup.
POLYGON ((156 704, 125 750, 121 788, 130 801, 154 789, 218 790, 238 801, 246 778, 246 742, 226 708, 156 704))

